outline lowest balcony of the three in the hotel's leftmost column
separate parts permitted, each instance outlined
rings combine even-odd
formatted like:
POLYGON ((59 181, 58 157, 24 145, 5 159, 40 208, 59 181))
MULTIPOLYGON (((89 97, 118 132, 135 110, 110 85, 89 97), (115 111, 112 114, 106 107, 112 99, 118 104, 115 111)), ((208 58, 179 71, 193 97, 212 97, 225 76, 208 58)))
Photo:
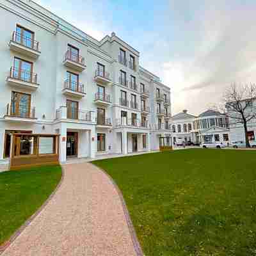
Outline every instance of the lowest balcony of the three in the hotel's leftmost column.
POLYGON ((4 120, 8 122, 27 122, 35 123, 37 118, 35 118, 35 108, 29 108, 28 106, 22 106, 17 102, 12 101, 10 104, 7 104, 6 115, 4 115, 4 120))

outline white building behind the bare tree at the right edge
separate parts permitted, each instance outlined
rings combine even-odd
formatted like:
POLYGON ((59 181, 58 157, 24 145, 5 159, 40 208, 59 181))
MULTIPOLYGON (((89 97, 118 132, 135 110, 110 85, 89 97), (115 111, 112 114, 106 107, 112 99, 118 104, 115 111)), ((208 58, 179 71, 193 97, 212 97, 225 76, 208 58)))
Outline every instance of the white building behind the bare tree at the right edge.
MULTIPOLYGON (((248 100, 243 100, 241 102, 241 104, 245 104, 245 102, 248 102, 248 100)), ((250 100, 250 104, 251 106, 248 107, 247 112, 252 112, 254 115, 256 113, 256 99, 250 100)), ((228 107, 228 104, 226 105, 226 108, 228 107)), ((227 113, 228 116, 230 116, 230 141, 231 142, 236 142, 236 141, 243 141, 243 143, 245 143, 245 132, 244 132, 244 125, 243 124, 239 124, 237 122, 236 118, 232 118, 232 116, 236 116, 239 115, 238 113, 231 113, 230 109, 227 108, 227 113)), ((250 114, 250 116, 252 116, 252 113, 247 113, 250 114)), ((255 141, 255 135, 256 135, 256 117, 252 118, 252 120, 250 120, 247 123, 247 134, 248 134, 248 138, 249 141, 255 141)))

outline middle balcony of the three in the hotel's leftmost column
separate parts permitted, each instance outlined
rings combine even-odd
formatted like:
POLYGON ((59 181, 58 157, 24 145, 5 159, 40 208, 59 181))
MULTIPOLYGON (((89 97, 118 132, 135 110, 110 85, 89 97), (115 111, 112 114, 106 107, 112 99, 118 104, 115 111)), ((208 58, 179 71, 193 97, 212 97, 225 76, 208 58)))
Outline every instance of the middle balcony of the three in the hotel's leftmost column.
POLYGON ((28 90, 36 90, 39 86, 37 74, 15 67, 10 68, 6 81, 9 85, 28 90))

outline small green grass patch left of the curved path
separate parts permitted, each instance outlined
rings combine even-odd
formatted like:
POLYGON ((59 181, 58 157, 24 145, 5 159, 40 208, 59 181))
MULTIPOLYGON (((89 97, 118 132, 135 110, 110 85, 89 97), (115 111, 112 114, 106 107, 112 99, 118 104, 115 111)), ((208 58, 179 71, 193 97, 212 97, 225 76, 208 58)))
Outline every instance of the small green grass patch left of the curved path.
POLYGON ((0 173, 0 244, 44 204, 61 179, 61 166, 0 173))

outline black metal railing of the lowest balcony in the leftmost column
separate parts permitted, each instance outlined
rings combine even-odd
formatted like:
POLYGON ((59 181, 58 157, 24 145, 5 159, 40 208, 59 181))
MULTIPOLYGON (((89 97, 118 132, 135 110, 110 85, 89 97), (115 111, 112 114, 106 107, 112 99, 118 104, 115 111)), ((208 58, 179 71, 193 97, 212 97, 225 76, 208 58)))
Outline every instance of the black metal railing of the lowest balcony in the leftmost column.
POLYGON ((6 116, 13 116, 19 118, 35 118, 36 109, 29 108, 24 104, 17 104, 15 101, 11 101, 6 107, 6 116))

